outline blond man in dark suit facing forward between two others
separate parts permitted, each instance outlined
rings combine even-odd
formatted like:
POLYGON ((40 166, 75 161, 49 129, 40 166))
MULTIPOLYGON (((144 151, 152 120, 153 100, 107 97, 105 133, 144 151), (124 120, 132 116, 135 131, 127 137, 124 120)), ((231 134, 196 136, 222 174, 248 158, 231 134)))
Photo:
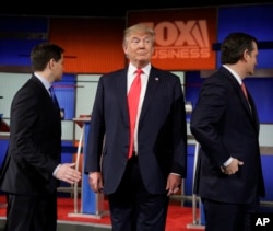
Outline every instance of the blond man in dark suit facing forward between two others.
MULTIPOLYGON (((129 66, 98 82, 87 140, 91 188, 108 195, 114 231, 164 231, 169 195, 186 176, 186 112, 180 79, 151 66, 154 31, 124 31, 129 66), (132 157, 128 94, 141 69, 132 157)), ((136 96, 135 96, 136 97, 136 96)))

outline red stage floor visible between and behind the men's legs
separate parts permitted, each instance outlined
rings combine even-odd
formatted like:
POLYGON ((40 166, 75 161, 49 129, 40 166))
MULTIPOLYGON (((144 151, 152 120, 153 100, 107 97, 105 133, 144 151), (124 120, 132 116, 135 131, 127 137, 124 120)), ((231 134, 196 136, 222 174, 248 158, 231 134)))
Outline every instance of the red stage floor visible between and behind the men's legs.
MULTIPOLYGON (((71 197, 58 197, 58 231, 109 231, 110 215, 108 201, 104 201, 102 216, 74 212, 74 199, 71 197)), ((81 206, 81 200, 78 201, 81 206)), ((0 196, 0 231, 5 223, 5 197, 0 196)), ((195 222, 195 221, 194 221, 195 222)), ((193 224, 191 207, 181 206, 180 201, 171 200, 168 209, 166 231, 195 231, 204 230, 204 227, 193 224)))

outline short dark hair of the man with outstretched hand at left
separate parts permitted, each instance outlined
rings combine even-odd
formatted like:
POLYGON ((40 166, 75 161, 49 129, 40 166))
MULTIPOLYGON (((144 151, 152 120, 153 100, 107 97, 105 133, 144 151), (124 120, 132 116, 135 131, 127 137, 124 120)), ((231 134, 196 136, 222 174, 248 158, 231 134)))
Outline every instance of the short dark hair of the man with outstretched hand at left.
POLYGON ((31 62, 33 71, 45 70, 50 59, 59 61, 64 49, 56 44, 41 43, 36 45, 31 53, 31 62))

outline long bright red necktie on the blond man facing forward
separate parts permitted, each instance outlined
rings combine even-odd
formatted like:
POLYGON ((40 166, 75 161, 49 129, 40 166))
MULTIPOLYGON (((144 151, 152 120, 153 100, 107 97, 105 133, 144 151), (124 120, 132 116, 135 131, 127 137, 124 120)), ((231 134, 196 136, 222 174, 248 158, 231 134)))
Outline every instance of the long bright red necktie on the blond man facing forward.
POLYGON ((128 93, 128 106, 129 106, 129 117, 130 117, 130 143, 129 143, 129 151, 128 151, 128 159, 132 157, 133 153, 133 137, 134 137, 134 128, 135 128, 135 120, 140 101, 140 91, 141 91, 141 73, 143 71, 138 69, 136 76, 132 82, 130 91, 128 93))

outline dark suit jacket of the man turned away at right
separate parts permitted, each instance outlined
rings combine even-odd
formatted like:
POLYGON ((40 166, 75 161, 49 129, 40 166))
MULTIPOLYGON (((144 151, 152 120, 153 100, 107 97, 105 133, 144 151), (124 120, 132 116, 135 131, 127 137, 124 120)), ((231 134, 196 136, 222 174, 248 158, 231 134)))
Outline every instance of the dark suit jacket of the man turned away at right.
POLYGON ((194 192, 224 203, 249 203, 264 195, 259 148, 259 118, 235 77, 224 67, 204 80, 191 115, 191 132, 200 143, 194 192), (244 161, 234 175, 222 173, 229 157, 244 161))

